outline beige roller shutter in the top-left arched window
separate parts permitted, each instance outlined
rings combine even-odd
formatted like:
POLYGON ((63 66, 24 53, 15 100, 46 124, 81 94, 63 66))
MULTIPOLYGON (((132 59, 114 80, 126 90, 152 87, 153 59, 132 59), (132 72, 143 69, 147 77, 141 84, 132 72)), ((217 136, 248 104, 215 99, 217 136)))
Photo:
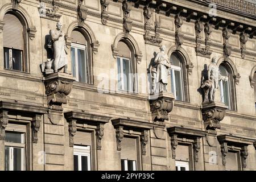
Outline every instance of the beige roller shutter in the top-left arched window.
POLYGON ((13 14, 6 14, 3 22, 3 47, 23 50, 23 26, 20 20, 13 14))

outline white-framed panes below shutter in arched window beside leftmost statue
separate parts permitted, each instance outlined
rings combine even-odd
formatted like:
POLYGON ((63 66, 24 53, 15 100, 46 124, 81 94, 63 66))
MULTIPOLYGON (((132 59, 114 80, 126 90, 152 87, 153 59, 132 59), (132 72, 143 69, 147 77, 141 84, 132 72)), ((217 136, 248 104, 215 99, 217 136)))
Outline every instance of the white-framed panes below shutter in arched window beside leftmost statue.
POLYGON ((90 84, 89 63, 86 46, 71 44, 72 73, 76 81, 90 84))

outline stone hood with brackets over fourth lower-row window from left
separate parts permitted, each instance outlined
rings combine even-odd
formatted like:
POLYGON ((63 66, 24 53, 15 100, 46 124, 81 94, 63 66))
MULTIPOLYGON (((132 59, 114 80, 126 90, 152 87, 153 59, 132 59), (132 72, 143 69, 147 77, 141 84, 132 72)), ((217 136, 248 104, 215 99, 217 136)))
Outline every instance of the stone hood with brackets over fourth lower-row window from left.
POLYGON ((193 162, 199 161, 198 154, 200 151, 200 143, 201 143, 200 138, 205 137, 205 135, 207 134, 207 131, 187 129, 184 127, 174 126, 174 127, 168 127, 167 132, 171 138, 172 159, 176 158, 175 150, 178 143, 185 143, 184 139, 190 139, 191 141, 188 141, 188 143, 192 144, 193 162))

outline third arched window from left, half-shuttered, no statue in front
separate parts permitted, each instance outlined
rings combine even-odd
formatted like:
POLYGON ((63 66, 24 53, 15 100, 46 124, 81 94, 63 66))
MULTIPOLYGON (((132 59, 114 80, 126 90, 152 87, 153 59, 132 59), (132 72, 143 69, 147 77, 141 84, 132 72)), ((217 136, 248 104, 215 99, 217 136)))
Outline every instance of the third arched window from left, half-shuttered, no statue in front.
POLYGON ((123 40, 118 42, 117 48, 118 89, 127 92, 137 92, 133 48, 126 42, 123 42, 123 40))

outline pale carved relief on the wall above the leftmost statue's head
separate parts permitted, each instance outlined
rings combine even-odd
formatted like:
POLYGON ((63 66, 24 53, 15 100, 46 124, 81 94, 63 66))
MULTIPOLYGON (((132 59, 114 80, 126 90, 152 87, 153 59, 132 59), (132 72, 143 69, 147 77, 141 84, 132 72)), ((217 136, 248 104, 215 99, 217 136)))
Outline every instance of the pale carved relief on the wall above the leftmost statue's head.
POLYGON ((40 18, 50 19, 59 22, 61 13, 59 12, 59 6, 54 5, 53 8, 46 7, 44 2, 40 2, 39 7, 40 18))

